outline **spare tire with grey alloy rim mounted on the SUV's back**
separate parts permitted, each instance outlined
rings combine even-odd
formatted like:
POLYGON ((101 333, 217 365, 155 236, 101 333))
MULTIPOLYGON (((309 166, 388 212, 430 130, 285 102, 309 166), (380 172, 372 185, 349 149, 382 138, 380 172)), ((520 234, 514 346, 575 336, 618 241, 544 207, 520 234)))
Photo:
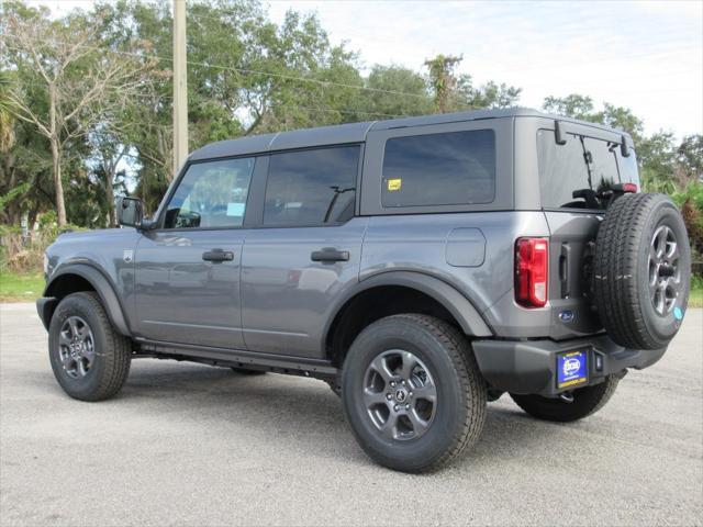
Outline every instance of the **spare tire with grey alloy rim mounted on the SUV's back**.
POLYGON ((607 209, 595 242, 594 302, 618 345, 659 349, 689 302, 691 248, 683 218, 663 194, 625 194, 607 209))

